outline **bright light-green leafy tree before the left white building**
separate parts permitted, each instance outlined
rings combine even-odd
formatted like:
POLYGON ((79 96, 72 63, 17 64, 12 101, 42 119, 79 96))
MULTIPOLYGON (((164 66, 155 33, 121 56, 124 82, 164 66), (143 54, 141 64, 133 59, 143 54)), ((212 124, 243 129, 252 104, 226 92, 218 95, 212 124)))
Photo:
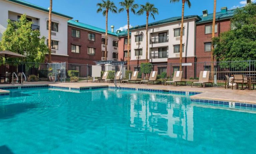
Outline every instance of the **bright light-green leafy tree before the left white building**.
POLYGON ((27 21, 23 14, 18 21, 8 20, 6 31, 0 42, 1 50, 9 50, 28 58, 13 58, 12 61, 43 62, 48 48, 45 45, 45 37, 40 37, 39 30, 32 30, 32 22, 27 21))

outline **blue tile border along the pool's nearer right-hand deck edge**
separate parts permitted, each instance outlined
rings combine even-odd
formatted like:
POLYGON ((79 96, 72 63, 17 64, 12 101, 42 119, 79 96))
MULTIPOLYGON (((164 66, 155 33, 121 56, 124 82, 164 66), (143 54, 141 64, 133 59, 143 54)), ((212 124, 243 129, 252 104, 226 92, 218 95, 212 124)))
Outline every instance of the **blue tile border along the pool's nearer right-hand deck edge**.
MULTIPOLYGON (((217 101, 217 100, 205 100, 205 99, 191 99, 192 102, 197 102, 200 104, 208 104, 208 105, 218 105, 218 106, 229 106, 230 102, 227 101, 217 101)), ((232 102, 235 104, 233 108, 235 109, 250 109, 256 110, 256 104, 249 104, 249 103, 239 103, 239 102, 232 102)))

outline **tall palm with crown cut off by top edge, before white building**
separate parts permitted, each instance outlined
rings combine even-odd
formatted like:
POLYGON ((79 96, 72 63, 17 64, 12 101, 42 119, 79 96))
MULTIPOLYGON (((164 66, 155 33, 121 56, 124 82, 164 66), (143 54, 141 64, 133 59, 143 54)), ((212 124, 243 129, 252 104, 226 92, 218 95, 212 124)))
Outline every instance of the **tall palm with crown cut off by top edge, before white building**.
MULTIPOLYGON (((171 0, 170 2, 179 2, 180 0, 171 0)), ((180 71, 182 71, 182 36, 183 36, 183 23, 184 23, 184 6, 187 3, 188 7, 191 7, 190 0, 182 0, 182 15, 181 15, 181 39, 180 39, 180 71)))

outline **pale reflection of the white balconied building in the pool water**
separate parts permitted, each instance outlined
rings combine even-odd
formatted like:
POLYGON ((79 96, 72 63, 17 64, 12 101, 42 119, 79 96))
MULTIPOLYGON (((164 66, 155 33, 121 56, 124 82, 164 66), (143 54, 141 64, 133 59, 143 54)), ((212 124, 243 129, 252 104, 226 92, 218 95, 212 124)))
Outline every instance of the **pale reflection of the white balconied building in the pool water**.
POLYGON ((165 94, 134 94, 131 127, 193 141, 193 110, 186 97, 165 94))

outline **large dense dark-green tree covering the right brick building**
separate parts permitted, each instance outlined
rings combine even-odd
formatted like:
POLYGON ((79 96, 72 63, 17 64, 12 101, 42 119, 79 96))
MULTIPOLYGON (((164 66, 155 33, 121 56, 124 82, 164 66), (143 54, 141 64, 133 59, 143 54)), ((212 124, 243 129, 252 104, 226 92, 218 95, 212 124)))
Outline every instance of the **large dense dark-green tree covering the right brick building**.
POLYGON ((256 5, 236 9, 231 30, 213 38, 218 61, 256 60, 256 5))

